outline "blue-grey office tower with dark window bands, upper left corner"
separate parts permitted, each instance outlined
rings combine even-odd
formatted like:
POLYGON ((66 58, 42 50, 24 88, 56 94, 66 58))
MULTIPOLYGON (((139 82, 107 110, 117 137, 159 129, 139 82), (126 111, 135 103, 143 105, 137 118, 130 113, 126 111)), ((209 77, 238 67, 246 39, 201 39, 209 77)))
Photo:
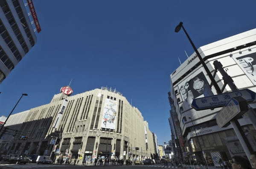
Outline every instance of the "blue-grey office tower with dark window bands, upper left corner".
POLYGON ((0 1, 0 83, 36 43, 22 0, 0 1))

